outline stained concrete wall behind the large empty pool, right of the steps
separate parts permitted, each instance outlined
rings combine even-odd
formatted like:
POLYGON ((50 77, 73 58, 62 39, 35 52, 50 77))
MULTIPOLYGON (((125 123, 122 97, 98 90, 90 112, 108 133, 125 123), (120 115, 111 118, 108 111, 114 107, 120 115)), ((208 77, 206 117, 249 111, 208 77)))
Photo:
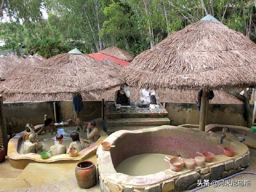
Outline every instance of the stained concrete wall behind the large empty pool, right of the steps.
MULTIPOLYGON (((195 103, 166 103, 171 125, 199 124, 195 103)), ((243 104, 209 104, 207 124, 247 126, 243 104)))

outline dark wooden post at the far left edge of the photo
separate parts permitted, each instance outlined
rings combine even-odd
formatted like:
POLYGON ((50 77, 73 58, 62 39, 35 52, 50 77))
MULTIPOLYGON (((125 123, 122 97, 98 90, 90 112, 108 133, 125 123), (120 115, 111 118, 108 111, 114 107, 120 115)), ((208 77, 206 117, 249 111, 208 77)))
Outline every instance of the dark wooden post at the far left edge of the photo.
POLYGON ((7 154, 8 147, 8 138, 7 138, 7 129, 6 121, 4 117, 4 104, 3 97, 0 95, 0 145, 4 146, 5 153, 7 154))

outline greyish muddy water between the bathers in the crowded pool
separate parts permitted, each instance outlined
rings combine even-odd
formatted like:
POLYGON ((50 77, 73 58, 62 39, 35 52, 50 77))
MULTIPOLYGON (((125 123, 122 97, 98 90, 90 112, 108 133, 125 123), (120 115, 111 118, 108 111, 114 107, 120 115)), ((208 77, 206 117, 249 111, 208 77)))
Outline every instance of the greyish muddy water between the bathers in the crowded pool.
MULTIPOLYGON (((72 142, 72 139, 70 138, 70 133, 75 131, 76 127, 64 127, 64 128, 59 128, 58 129, 58 134, 63 135, 63 142, 62 145, 65 145, 66 148, 69 147, 70 143, 72 142)), ((80 138, 86 139, 87 138, 87 133, 86 132, 78 132, 80 138)), ((43 150, 44 151, 49 151, 50 146, 56 144, 56 135, 55 134, 42 134, 39 135, 39 138, 42 138, 42 141, 40 141, 43 145, 43 150)), ((92 146, 95 142, 92 142, 90 146, 92 146)), ((23 144, 24 141, 19 145, 18 152, 22 154, 22 149, 23 149, 23 144)))

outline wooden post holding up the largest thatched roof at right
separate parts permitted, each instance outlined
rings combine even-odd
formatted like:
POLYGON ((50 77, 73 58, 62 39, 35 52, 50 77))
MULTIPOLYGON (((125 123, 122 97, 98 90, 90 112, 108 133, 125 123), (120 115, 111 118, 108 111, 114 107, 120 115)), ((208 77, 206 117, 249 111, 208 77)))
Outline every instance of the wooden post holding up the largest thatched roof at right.
POLYGON ((199 130, 204 131, 206 125, 206 118, 207 118, 207 91, 203 91, 203 95, 201 98, 201 106, 200 106, 200 120, 199 120, 199 130))

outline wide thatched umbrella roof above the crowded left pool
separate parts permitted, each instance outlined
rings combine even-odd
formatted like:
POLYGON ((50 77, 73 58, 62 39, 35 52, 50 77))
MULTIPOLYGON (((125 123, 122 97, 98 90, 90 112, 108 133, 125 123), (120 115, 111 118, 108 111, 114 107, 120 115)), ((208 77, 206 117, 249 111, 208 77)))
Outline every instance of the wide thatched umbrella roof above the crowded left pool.
POLYGON ((15 101, 24 101, 24 98, 30 101, 70 100, 75 92, 86 95, 112 88, 120 82, 115 68, 85 54, 70 52, 10 76, 2 84, 5 97, 15 101))

